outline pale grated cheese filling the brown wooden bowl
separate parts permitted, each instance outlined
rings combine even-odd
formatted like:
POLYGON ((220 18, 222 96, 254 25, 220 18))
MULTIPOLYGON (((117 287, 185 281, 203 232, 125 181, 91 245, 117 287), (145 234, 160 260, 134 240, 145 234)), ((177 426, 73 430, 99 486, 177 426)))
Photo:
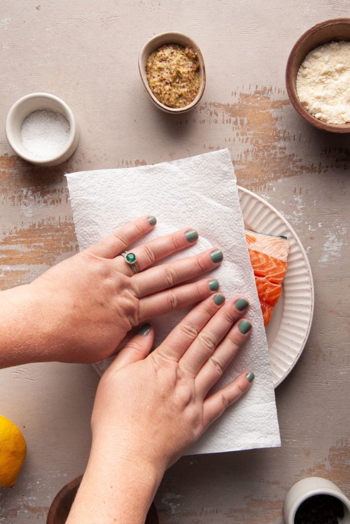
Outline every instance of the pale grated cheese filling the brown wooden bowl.
POLYGON ((300 102, 330 124, 350 122, 350 42, 326 43, 310 51, 297 74, 300 102))

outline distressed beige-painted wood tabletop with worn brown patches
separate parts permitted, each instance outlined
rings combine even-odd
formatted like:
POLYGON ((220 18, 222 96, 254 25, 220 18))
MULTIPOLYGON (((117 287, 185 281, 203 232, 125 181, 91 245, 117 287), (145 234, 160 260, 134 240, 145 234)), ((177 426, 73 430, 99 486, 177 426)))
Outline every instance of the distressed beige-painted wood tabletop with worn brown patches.
MULTIPOLYGON (((0 289, 76 252, 65 172, 223 147, 239 184, 283 213, 308 253, 314 320, 300 361, 276 390, 282 446, 184 457, 156 495, 161 524, 281 524, 287 490, 312 475, 350 496, 349 137, 304 123, 284 80, 299 36, 342 16, 347 0, 1 3, 2 128, 20 96, 45 91, 71 106, 81 140, 70 160, 43 169, 17 158, 0 133, 0 289), (193 37, 206 63, 204 96, 184 116, 156 110, 138 73, 143 43, 167 30, 193 37)), ((0 412, 24 432, 28 457, 16 486, 0 489, 0 523, 46 521, 58 490, 83 472, 97 383, 88 365, 1 372, 0 412)))

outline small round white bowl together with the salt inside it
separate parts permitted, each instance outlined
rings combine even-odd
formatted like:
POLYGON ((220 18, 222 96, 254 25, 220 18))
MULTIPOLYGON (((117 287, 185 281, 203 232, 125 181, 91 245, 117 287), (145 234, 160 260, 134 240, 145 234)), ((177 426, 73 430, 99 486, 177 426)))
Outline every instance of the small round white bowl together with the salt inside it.
POLYGON ((7 114, 5 131, 16 154, 37 166, 64 162, 79 141, 70 107, 49 93, 31 93, 17 100, 7 114))

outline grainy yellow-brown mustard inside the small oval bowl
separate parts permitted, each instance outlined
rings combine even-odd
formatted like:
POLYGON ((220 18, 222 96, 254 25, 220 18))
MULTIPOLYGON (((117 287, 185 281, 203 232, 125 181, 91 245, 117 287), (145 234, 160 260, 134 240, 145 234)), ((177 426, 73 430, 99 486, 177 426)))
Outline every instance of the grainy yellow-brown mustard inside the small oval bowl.
POLYGON ((185 107, 199 91, 199 60, 190 46, 169 43, 153 51, 146 62, 150 88, 162 104, 185 107))

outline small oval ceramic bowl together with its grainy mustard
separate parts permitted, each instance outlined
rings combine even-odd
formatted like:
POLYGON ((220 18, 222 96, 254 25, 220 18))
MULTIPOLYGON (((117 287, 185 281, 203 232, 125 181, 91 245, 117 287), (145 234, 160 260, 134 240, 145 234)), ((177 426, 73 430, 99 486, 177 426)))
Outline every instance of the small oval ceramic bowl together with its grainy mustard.
POLYGON ((139 71, 144 88, 150 96, 150 99, 157 107, 166 113, 185 113, 186 111, 193 109, 195 105, 198 104, 204 93, 206 85, 206 71, 202 53, 197 43, 192 38, 184 35, 183 33, 164 32, 146 42, 139 54, 139 71), (160 59, 159 67, 163 68, 163 72, 156 73, 154 71, 153 79, 150 79, 153 85, 152 90, 150 81, 148 79, 148 74, 151 73, 151 68, 156 67, 156 65, 155 63, 153 63, 152 66, 148 65, 148 59, 151 53, 155 53, 157 50, 160 50, 160 48, 161 51, 163 50, 163 58, 160 59), (186 84, 187 80, 185 69, 182 69, 182 65, 178 65, 180 63, 179 61, 181 60, 180 53, 183 53, 185 49, 186 53, 191 53, 188 56, 190 57, 190 60, 193 61, 193 68, 189 68, 187 70, 189 73, 188 79, 190 76, 191 79, 195 77, 195 83, 192 84, 190 83, 191 80, 188 80, 188 84, 186 84), (164 58, 164 53, 168 53, 169 60, 172 60, 172 64, 175 63, 173 60, 177 59, 174 58, 174 53, 179 54, 178 62, 174 66, 171 66, 172 69, 164 69, 164 62, 167 60, 166 57, 164 58), (170 53, 172 54, 171 59, 170 53), (163 64, 161 61, 163 61, 163 64), (196 72, 193 75, 193 71, 195 69, 196 72), (158 83, 158 85, 155 85, 156 83, 158 83), (179 83, 182 86, 182 91, 180 91, 179 83), (188 96, 186 95, 186 90, 188 96), (177 96, 175 100, 175 93, 180 92, 181 94, 177 96))

